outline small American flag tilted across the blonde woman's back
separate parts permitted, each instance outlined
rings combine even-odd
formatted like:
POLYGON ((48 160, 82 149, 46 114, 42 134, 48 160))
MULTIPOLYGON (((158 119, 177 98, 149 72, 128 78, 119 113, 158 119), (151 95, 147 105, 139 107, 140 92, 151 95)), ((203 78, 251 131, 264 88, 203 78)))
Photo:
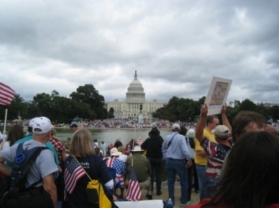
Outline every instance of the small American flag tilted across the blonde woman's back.
POLYGON ((66 170, 64 173, 65 189, 68 193, 72 194, 75 191, 75 186, 80 178, 84 177, 82 166, 72 157, 66 164, 66 170))

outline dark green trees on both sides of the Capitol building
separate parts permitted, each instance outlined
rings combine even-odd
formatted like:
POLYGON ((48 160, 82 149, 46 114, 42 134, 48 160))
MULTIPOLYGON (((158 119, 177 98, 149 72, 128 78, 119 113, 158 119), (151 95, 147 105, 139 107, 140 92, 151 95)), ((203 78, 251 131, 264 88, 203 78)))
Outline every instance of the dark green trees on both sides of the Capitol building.
MULTIPOLYGON (((205 97, 197 101, 188 98, 172 97, 167 106, 158 109, 152 113, 153 118, 169 120, 171 122, 197 122, 199 109, 204 104, 205 97)), ((79 86, 76 92, 69 97, 61 97, 56 90, 51 94, 38 93, 33 100, 25 102, 19 95, 15 94, 15 99, 9 106, 0 105, 1 119, 5 118, 5 109, 8 109, 7 120, 16 120, 18 118, 29 119, 37 116, 46 116, 54 123, 70 123, 75 116, 88 120, 114 118, 114 109, 104 108, 105 98, 98 93, 92 84, 79 86)), ((227 118, 230 122, 239 111, 256 111, 262 113, 268 120, 279 119, 279 106, 266 106, 263 103, 257 103, 245 99, 243 102, 235 100, 227 103, 227 118)))

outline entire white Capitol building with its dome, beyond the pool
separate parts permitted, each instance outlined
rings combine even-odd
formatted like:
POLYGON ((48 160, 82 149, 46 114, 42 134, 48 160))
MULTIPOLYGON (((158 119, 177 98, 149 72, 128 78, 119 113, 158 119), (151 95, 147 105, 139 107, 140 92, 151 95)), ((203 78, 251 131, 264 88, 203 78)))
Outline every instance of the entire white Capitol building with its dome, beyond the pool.
POLYGON ((105 102, 105 109, 110 111, 110 108, 113 108, 114 118, 116 119, 137 120, 142 105, 142 118, 150 120, 152 118, 151 113, 167 105, 167 103, 157 102, 156 99, 152 102, 146 101, 142 83, 137 79, 137 71, 135 71, 134 77, 134 80, 128 86, 126 99, 123 101, 114 99, 113 102, 105 102))

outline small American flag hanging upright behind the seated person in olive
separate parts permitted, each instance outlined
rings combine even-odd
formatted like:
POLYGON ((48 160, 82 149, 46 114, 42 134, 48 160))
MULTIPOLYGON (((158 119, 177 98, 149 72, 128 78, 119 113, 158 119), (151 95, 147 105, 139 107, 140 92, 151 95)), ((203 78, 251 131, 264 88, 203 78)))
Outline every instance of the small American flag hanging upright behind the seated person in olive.
POLYGON ((135 175, 135 169, 132 166, 130 171, 130 182, 126 195, 127 201, 139 201, 142 200, 142 191, 140 191, 139 183, 137 182, 137 176, 135 175))

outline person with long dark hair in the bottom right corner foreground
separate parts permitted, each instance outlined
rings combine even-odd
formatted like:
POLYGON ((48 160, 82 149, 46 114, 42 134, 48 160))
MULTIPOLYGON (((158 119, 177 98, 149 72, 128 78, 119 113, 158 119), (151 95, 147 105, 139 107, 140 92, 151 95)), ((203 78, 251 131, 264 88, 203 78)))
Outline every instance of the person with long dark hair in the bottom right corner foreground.
POLYGON ((243 134, 227 155, 213 198, 192 207, 279 207, 279 138, 266 131, 243 134))

